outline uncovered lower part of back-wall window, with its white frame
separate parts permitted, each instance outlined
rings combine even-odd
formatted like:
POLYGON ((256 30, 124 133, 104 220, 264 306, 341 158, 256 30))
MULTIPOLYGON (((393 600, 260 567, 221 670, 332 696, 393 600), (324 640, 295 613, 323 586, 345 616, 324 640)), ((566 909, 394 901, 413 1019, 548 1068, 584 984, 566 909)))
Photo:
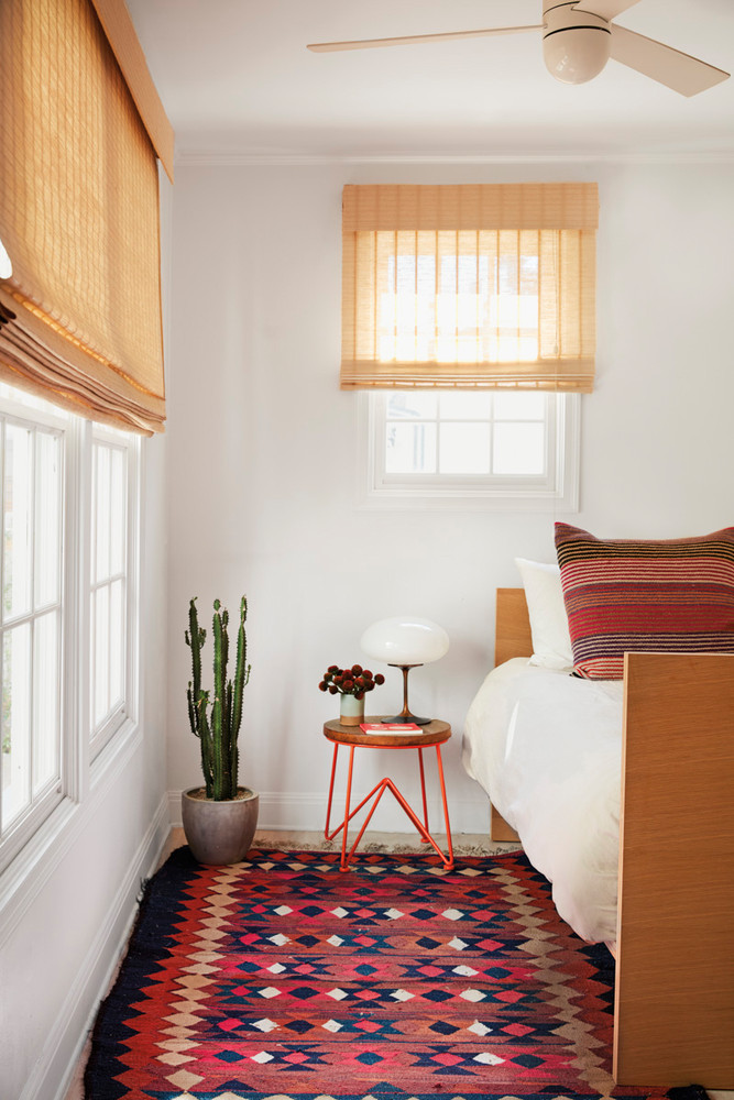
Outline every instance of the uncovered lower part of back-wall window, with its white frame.
POLYGON ((365 397, 368 501, 578 507, 578 395, 413 389, 365 397))

